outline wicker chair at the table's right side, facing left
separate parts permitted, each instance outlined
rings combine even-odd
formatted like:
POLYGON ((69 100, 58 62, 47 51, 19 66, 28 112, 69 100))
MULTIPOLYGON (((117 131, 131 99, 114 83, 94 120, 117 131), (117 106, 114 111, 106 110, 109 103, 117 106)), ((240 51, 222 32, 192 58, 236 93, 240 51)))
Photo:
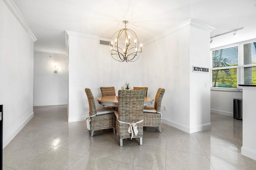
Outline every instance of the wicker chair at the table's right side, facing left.
POLYGON ((162 113, 161 102, 164 96, 165 89, 158 88, 156 92, 154 107, 144 107, 143 110, 143 126, 144 127, 159 127, 159 132, 162 132, 162 113))

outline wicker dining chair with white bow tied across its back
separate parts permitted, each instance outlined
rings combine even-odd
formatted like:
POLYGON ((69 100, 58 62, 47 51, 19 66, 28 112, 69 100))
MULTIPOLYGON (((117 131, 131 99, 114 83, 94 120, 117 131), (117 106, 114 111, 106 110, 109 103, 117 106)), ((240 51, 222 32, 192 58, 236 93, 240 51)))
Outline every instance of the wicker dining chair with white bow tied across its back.
POLYGON ((118 111, 116 114, 116 135, 120 139, 120 147, 123 139, 143 137, 143 105, 145 90, 119 90, 118 111))

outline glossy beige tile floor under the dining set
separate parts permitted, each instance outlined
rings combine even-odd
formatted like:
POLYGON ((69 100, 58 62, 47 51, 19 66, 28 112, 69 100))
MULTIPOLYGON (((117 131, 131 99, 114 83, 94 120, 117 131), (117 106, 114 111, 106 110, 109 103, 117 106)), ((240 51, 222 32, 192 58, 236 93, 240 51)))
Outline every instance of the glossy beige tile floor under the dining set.
POLYGON ((110 130, 90 137, 86 121, 68 123, 67 106, 34 107, 34 117, 4 148, 3 169, 256 170, 241 155, 242 121, 211 114, 212 129, 188 134, 162 124, 144 131, 143 145, 110 130))

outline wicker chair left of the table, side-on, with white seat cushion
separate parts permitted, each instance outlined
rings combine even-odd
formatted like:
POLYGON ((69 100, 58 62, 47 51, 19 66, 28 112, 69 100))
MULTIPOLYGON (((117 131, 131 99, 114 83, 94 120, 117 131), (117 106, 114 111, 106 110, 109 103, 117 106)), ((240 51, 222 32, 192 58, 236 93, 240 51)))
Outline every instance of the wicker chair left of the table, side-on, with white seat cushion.
POLYGON ((114 109, 111 107, 96 108, 92 91, 89 88, 84 89, 89 102, 89 117, 86 120, 87 128, 91 131, 91 137, 93 137, 94 131, 101 129, 113 128, 116 133, 114 109))

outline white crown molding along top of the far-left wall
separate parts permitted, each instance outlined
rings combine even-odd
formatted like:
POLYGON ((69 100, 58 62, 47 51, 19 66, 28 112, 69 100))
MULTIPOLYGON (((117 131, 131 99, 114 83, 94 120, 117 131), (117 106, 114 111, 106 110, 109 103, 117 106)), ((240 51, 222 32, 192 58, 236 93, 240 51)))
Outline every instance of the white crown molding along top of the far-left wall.
POLYGON ((6 6, 9 8, 9 10, 12 12, 12 14, 15 16, 15 18, 19 21, 19 23, 22 25, 22 27, 25 29, 25 31, 28 33, 28 35, 30 35, 30 37, 35 42, 37 40, 36 36, 30 29, 28 23, 26 22, 26 20, 24 19, 24 17, 20 13, 20 11, 18 10, 18 8, 14 4, 14 2, 12 0, 3 0, 3 2, 6 4, 6 6))

